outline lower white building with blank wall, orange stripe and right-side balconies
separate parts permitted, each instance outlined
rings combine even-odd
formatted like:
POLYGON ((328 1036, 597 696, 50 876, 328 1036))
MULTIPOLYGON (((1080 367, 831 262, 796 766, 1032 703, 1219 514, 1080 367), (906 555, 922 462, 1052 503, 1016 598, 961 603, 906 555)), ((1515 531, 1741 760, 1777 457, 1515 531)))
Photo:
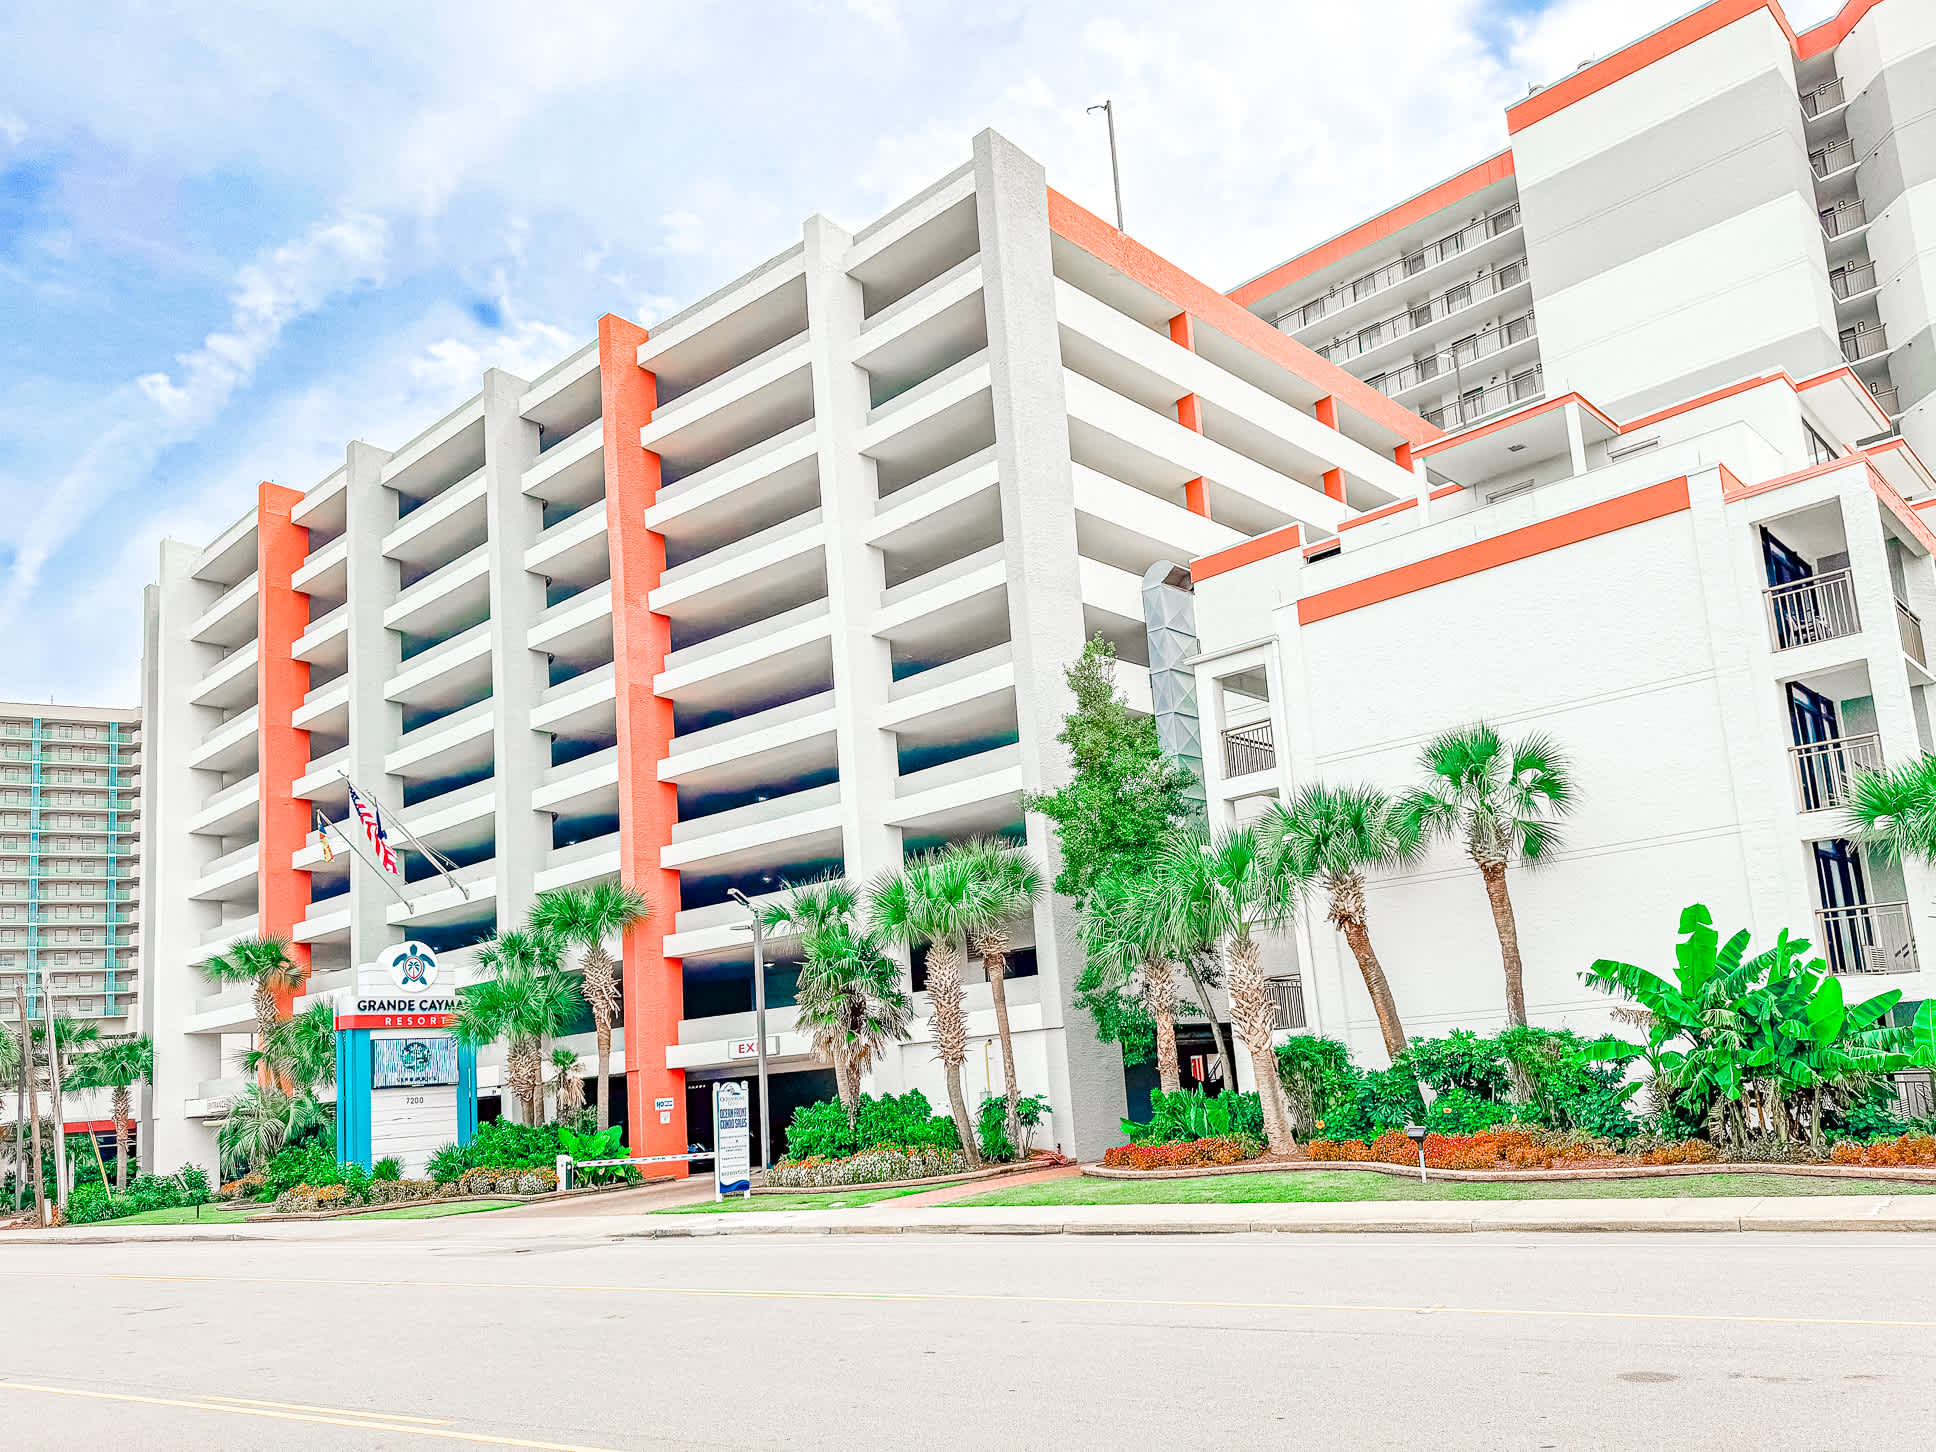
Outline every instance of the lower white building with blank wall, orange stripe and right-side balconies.
MULTIPOLYGON (((1508 873, 1533 1022, 1613 1028, 1580 970, 1671 972, 1690 902, 1764 947, 1808 937, 1851 999, 1928 997, 1936 879, 1839 825, 1857 771, 1932 749, 1936 480, 1901 439, 1855 445, 1882 422, 1847 368, 1624 420, 1568 395, 1419 449, 1417 501, 1195 561, 1212 815, 1311 780, 1398 792, 1477 718, 1543 732, 1578 807, 1551 863, 1508 873)), ((1376 875, 1369 918, 1407 1034, 1504 1026, 1458 846, 1376 875)), ((1293 939, 1305 1022, 1382 1063, 1322 910, 1293 939)))

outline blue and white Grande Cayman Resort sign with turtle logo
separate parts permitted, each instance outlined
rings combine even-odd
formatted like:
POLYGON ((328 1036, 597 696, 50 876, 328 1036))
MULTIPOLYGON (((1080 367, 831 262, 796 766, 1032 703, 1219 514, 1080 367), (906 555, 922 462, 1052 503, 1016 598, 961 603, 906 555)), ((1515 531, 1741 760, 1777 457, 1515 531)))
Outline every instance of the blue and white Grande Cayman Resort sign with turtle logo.
POLYGON ((374 1165, 395 1158, 416 1177, 438 1146, 467 1138, 476 1074, 470 1051, 449 1034, 453 980, 424 943, 399 943, 358 964, 347 1013, 337 1014, 343 1160, 374 1165))

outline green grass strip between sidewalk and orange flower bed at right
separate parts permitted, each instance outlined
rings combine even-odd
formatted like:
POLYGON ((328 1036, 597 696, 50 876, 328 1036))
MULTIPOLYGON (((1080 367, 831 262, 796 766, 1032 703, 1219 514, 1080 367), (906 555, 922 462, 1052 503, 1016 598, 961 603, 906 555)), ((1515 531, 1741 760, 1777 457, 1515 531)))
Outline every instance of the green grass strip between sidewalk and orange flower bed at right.
POLYGON ((1336 1200, 1682 1200, 1711 1195, 1930 1195, 1936 1185, 1802 1175, 1663 1175, 1659 1179, 1454 1183, 1371 1169, 1305 1169, 1204 1179, 1051 1179, 989 1191, 949 1208, 993 1204, 1256 1204, 1336 1200))

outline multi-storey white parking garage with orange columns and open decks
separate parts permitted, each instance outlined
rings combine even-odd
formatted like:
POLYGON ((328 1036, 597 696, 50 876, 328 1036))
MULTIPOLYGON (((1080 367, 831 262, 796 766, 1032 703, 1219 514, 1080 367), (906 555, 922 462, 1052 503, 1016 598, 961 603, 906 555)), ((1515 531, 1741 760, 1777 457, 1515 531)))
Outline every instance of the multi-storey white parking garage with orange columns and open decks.
MULTIPOLYGON (((209 991, 211 951, 285 933, 314 999, 407 935, 463 962, 534 892, 614 873, 654 904, 621 945, 629 1144, 707 1138, 689 1088, 755 1051, 732 889, 865 881, 983 832, 1049 862, 1020 802, 1061 778, 1084 637, 1117 643, 1146 701, 1152 565, 1411 499, 1411 451, 1437 436, 985 132, 860 232, 813 217, 650 333, 606 318, 542 378, 486 374, 416 439, 352 441, 300 494, 261 486, 217 540, 165 544, 149 592, 157 1160, 213 1158, 242 1086, 248 995, 209 991), (325 862, 312 813, 347 815, 345 772, 463 889, 414 852, 405 900, 325 862)), ((1125 1078, 1073 1007, 1069 906, 1016 943, 1042 1142, 1096 1154, 1125 1078)), ((784 1123, 831 1076, 792 1032, 774 947, 784 1123)), ((987 987, 968 993, 978 1098, 1001 1071, 987 987)), ((923 1014, 869 1088, 943 1104, 925 1032, 923 1014)))

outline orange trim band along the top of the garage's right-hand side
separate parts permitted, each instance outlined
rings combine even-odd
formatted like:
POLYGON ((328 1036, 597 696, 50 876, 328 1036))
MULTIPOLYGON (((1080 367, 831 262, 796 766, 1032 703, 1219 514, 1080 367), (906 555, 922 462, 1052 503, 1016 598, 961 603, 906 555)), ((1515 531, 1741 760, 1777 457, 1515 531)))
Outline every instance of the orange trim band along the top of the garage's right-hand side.
POLYGON ((1076 205, 1053 186, 1049 188, 1049 228, 1065 242, 1073 242, 1098 261, 1123 273, 1123 277, 1142 283, 1177 312, 1189 314, 1193 329, 1195 323, 1208 323, 1231 343, 1249 348, 1260 358, 1270 358, 1270 362, 1287 368, 1324 393, 1338 395, 1353 412, 1392 430, 1409 443, 1425 443, 1440 436, 1442 430, 1433 428, 1409 408, 1392 403, 1375 387, 1351 378, 1338 364, 1318 358, 1303 343, 1293 343, 1208 283, 1196 281, 1133 236, 1117 232, 1102 217, 1076 205))

